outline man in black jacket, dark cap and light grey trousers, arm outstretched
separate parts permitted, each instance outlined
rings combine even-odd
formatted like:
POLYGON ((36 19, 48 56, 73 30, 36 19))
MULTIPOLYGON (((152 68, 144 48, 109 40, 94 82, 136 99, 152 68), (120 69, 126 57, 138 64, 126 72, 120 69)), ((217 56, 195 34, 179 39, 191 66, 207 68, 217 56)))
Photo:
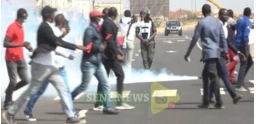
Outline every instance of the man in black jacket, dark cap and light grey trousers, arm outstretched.
POLYGON ((3 113, 3 117, 8 124, 16 124, 14 120, 15 114, 20 107, 26 102, 28 97, 36 94, 44 80, 49 79, 56 88, 60 98, 62 110, 67 116, 67 124, 77 124, 80 120, 72 112, 72 105, 69 101, 69 92, 67 91, 63 78, 59 72, 59 68, 54 64, 54 50, 57 46, 64 47, 70 50, 86 50, 84 46, 76 46, 61 40, 61 37, 56 37, 51 29, 51 23, 54 20, 54 12, 56 9, 46 6, 42 9, 41 15, 44 22, 37 31, 37 48, 33 52, 31 62, 31 85, 26 92, 11 105, 7 112, 3 113))

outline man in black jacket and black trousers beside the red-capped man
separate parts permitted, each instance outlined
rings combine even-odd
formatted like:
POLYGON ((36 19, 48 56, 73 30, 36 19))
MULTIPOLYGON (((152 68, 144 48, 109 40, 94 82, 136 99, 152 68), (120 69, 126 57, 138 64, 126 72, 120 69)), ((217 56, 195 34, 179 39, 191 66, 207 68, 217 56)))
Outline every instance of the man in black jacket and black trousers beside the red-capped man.
MULTIPOLYGON (((123 61, 123 52, 118 48, 116 42, 116 36, 118 33, 118 27, 113 20, 116 19, 118 12, 115 7, 110 7, 108 12, 108 17, 104 20, 102 24, 101 34, 103 40, 107 42, 107 48, 105 49, 105 55, 103 57, 103 64, 109 75, 110 69, 115 72, 117 77, 117 92, 119 97, 122 97, 123 92, 123 80, 124 72, 120 61, 123 61)), ((134 107, 125 104, 120 101, 118 102, 116 109, 133 109, 134 107)))

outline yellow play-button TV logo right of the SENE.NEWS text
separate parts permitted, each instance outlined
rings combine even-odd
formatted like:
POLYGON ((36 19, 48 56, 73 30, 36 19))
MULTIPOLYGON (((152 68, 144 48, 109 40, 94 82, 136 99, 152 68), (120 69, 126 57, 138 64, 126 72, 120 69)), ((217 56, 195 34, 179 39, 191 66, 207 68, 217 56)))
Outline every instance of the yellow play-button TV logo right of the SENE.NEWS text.
POLYGON ((157 114, 164 109, 174 109, 179 100, 177 89, 168 89, 158 82, 151 83, 152 114, 157 114))

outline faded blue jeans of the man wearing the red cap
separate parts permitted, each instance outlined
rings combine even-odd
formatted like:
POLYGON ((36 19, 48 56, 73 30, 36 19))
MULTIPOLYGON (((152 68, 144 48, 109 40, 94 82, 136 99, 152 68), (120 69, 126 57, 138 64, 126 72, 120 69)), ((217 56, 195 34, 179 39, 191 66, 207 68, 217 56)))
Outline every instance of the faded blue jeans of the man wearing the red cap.
POLYGON ((81 70, 82 70, 82 83, 72 92, 72 99, 74 99, 78 94, 80 94, 81 92, 84 92, 84 90, 87 89, 88 84, 91 81, 92 76, 94 75, 99 81, 99 84, 102 86, 102 93, 104 94, 104 97, 105 97, 105 102, 103 104, 104 110, 112 109, 112 103, 110 102, 110 97, 109 97, 110 89, 108 86, 108 75, 103 64, 82 62, 81 70))

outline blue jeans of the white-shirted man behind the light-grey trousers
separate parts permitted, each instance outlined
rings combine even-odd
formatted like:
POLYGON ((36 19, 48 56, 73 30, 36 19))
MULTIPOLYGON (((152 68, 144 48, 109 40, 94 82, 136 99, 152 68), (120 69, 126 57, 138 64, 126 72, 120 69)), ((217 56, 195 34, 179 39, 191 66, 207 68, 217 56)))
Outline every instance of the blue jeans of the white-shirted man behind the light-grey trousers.
MULTIPOLYGON (((73 107, 73 101, 72 101, 72 97, 71 97, 71 93, 70 93, 70 89, 69 89, 69 82, 68 82, 68 79, 67 79, 67 73, 66 73, 66 70, 64 68, 61 68, 59 69, 60 73, 61 73, 61 76, 63 77, 64 79, 64 83, 65 83, 65 86, 67 88, 67 91, 69 92, 69 105, 70 107, 72 107, 72 110, 74 112, 74 114, 76 114, 75 110, 74 110, 74 107, 73 107)), ((33 107, 36 103, 36 101, 38 100, 38 98, 44 93, 44 91, 46 90, 47 86, 49 84, 49 80, 46 80, 43 82, 42 86, 40 87, 40 89, 38 90, 38 92, 36 92, 35 95, 33 95, 29 101, 28 101, 28 104, 27 104, 27 107, 25 109, 25 113, 26 114, 32 114, 32 111, 33 111, 33 107)))

